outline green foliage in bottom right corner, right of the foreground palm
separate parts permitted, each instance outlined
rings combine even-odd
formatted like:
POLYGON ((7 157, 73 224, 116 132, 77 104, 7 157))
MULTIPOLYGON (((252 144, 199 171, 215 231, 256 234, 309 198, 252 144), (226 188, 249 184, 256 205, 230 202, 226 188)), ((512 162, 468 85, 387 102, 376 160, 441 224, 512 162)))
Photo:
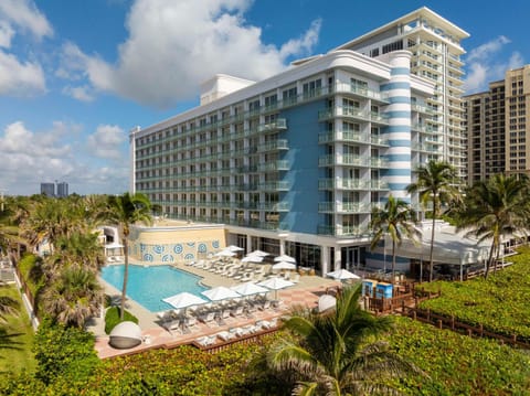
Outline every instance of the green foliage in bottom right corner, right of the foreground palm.
POLYGON ((530 354, 396 318, 391 347, 426 372, 400 381, 413 395, 530 395, 530 354))

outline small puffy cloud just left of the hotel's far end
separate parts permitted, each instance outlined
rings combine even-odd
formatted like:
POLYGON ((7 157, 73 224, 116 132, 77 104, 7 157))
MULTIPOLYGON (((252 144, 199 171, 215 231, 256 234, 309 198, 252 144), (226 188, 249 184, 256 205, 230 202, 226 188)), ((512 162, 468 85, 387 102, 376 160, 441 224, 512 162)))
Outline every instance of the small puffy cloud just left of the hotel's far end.
POLYGON ((120 149, 126 140, 124 130, 118 126, 100 125, 88 136, 87 147, 95 157, 118 160, 124 157, 120 149))

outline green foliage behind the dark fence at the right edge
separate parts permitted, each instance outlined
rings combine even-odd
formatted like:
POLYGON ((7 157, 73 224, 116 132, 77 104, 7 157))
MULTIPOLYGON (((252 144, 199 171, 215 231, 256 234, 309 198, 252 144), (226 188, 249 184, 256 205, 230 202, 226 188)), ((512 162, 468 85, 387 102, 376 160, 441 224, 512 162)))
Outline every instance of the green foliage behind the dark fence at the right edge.
POLYGON ((442 290, 442 297, 424 301, 420 307, 443 315, 455 315, 471 325, 530 342, 530 248, 510 257, 513 265, 490 275, 464 282, 437 281, 423 285, 427 290, 442 290))

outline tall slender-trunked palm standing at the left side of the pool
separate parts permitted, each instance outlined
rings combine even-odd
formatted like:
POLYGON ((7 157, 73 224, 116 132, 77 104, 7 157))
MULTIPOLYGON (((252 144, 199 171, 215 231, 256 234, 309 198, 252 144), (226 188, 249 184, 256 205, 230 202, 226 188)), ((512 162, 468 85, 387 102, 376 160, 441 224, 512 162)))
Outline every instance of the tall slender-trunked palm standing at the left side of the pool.
POLYGON ((125 269, 124 286, 121 288, 120 319, 124 319, 125 299, 127 295, 127 280, 129 275, 129 234, 130 226, 135 223, 151 224, 151 203, 147 195, 124 193, 118 196, 109 196, 107 208, 99 214, 99 218, 117 224, 124 245, 125 269))

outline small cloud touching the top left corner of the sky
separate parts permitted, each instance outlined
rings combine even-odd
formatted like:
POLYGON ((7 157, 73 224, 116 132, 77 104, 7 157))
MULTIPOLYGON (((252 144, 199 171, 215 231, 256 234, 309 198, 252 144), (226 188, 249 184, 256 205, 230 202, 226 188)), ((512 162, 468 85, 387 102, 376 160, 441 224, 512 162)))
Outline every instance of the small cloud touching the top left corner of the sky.
POLYGON ((36 40, 53 35, 50 22, 31 0, 0 1, 0 20, 29 31, 36 40))

